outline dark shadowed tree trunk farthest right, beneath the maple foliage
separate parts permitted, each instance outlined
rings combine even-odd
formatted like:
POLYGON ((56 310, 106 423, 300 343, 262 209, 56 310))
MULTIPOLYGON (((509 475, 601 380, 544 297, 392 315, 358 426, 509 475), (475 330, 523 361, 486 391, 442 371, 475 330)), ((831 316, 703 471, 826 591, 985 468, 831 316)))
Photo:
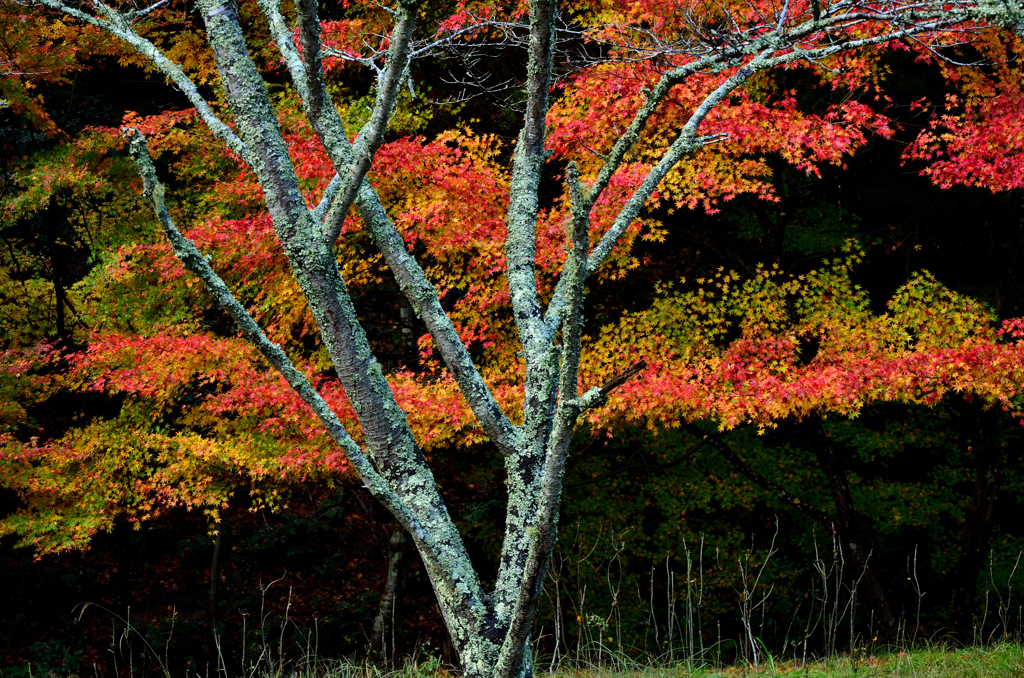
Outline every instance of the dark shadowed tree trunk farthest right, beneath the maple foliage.
POLYGON ((970 640, 974 631, 978 575, 985 562, 985 552, 988 551, 995 500, 998 498, 1007 459, 998 440, 995 419, 992 411, 982 413, 977 435, 973 444, 968 446, 976 460, 976 472, 971 499, 964 512, 956 588, 953 590, 953 605, 949 613, 949 635, 961 642, 970 640))

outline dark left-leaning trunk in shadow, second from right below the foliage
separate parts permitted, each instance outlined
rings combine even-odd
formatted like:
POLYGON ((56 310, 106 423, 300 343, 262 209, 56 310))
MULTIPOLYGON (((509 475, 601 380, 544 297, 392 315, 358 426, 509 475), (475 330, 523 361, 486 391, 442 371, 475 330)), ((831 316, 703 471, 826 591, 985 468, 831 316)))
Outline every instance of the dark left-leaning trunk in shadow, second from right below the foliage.
POLYGON ((879 621, 879 637, 886 642, 895 642, 899 630, 896 616, 893 615, 892 607, 889 605, 889 597, 882 587, 882 582, 879 581, 871 567, 870 553, 860 539, 846 471, 844 471, 839 456, 836 454, 831 439, 825 434, 823 428, 819 428, 819 440, 818 444, 815 446, 814 453, 825 478, 828 480, 828 489, 831 491, 833 502, 836 504, 834 527, 836 538, 842 543, 846 557, 856 567, 854 579, 861 579, 871 609, 874 610, 879 621))

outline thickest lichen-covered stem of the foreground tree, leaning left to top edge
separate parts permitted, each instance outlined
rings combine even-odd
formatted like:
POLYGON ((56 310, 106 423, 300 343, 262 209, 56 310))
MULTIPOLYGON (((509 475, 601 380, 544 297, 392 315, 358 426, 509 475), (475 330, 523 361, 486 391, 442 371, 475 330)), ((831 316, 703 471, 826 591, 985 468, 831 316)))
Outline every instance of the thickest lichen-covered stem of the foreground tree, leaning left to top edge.
POLYGON ((479 580, 406 413, 370 349, 333 249, 306 209, 265 83, 248 56, 237 8, 231 0, 201 0, 200 8, 236 121, 259 157, 257 178, 274 230, 352 401, 372 461, 437 545, 425 561, 453 633, 479 633, 486 618, 479 580))

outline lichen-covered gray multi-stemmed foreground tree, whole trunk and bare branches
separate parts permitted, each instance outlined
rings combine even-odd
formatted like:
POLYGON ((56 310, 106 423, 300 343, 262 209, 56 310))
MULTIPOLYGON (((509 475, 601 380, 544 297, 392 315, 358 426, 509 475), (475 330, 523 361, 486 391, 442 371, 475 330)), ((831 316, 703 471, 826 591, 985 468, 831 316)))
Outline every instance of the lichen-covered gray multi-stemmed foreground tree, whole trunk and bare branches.
MULTIPOLYGON (((720 44, 703 45, 692 60, 665 74, 646 93, 645 102, 612 144, 591 185, 583 185, 575 168, 568 168, 566 189, 571 198, 571 216, 566 224, 567 257, 554 297, 544 308, 537 292, 536 226, 548 157, 546 118, 553 83, 557 7, 556 0, 531 0, 524 83, 526 109, 512 163, 507 209, 507 279, 525 362, 523 422, 517 426, 488 390, 444 312, 436 289, 406 249, 367 179, 374 155, 387 132, 398 88, 408 73, 416 19, 421 16, 419 4, 415 0, 399 0, 391 8, 394 26, 386 56, 381 63, 367 61, 378 73, 374 109, 368 124, 350 141, 324 81, 315 0, 295 3, 298 19, 294 28, 301 53, 293 41, 295 33, 283 14, 281 1, 257 2, 310 127, 334 165, 335 177, 319 204, 311 210, 299 189, 266 86, 249 56, 233 0, 200 0, 198 8, 237 133, 217 118, 182 70, 136 33, 134 23, 150 9, 122 12, 94 0, 89 5, 91 10, 86 10, 60 0, 39 0, 40 4, 105 30, 147 58, 185 93, 214 135, 255 173, 292 272, 357 415, 366 440, 365 451, 352 440, 302 373, 266 338, 209 260, 178 231, 164 206, 164 188, 157 178, 145 139, 135 130, 125 130, 145 195, 175 255, 203 281, 242 335, 311 408, 370 492, 411 536, 426 565, 466 678, 512 678, 532 672, 529 632, 556 539, 562 474, 575 422, 584 411, 602 405, 615 386, 642 369, 642 365, 634 366, 604 387, 579 394, 586 281, 640 215, 665 176, 701 145, 723 138, 720 134, 699 134, 708 115, 759 71, 942 30, 981 15, 1013 26, 1022 18, 1019 2, 978 4, 954 0, 945 4, 835 3, 820 7, 813 20, 801 23, 786 15, 786 3, 764 26, 737 30, 720 44), (843 33, 864 22, 889 28, 871 37, 843 33), (820 33, 824 28, 831 31, 826 39, 820 33), (821 42, 814 43, 818 39, 821 42), (672 88, 692 75, 722 71, 731 75, 695 108, 664 157, 622 207, 611 228, 591 249, 592 209, 640 141, 651 118, 665 104, 672 88), (506 458, 509 485, 506 534, 492 591, 483 589, 469 561, 406 415, 370 350, 339 271, 333 244, 352 206, 406 295, 409 307, 433 338, 481 428, 506 458)), ((426 35, 437 46, 443 39, 438 39, 434 30, 435 27, 429 27, 426 35)))

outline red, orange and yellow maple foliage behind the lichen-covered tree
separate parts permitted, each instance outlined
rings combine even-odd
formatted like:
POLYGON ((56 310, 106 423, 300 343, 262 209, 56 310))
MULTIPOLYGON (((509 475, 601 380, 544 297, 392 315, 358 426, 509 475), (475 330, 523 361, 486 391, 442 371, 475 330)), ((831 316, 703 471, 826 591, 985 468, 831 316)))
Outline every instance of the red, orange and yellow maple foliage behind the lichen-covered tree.
MULTIPOLYGON (((359 57, 360 48, 366 48, 357 37, 369 24, 381 20, 372 10, 353 11, 361 15, 325 24, 326 44, 338 54, 327 61, 329 74, 355 68, 346 58, 359 57)), ((620 18, 634 23, 657 16, 653 30, 658 36, 680 30, 644 3, 614 11, 624 11, 620 18)), ((442 30, 482 18, 464 12, 442 30)), ((19 20, 14 15, 8 19, 19 20)), ((44 28, 39 35, 53 37, 54 30, 44 28)), ((81 38, 76 34, 81 46, 75 50, 69 51, 72 41, 67 37, 47 43, 54 45, 53 58, 72 59, 80 49, 96 54, 95 47, 81 43, 92 35, 83 31, 81 38)), ((159 29, 154 35, 160 38, 159 29)), ((978 44, 990 56, 1005 56, 1000 40, 994 33, 984 34, 978 44)), ((181 53, 190 49, 185 43, 171 48, 181 53)), ((33 51, 25 46, 12 49, 19 54, 33 51)), ((874 53, 844 55, 833 65, 842 78, 811 68, 807 76, 820 79, 816 86, 825 92, 877 91, 878 59, 874 53)), ((202 52, 186 59, 185 67, 200 82, 211 68, 202 52)), ((970 173, 972 181, 1013 187, 1011 156, 998 154, 995 160, 977 155, 978 150, 1001 149, 1006 142, 965 135, 1013 134, 1007 125, 989 123, 1006 119, 1010 124, 1017 111, 1015 99, 1008 98, 1015 72, 1007 65, 993 78, 977 69, 944 68, 965 92, 967 108, 958 118, 936 118, 935 129, 949 131, 944 136, 923 134, 910 157, 929 159, 939 153, 927 171, 946 177, 943 181, 964 181, 963 173, 970 173), (992 96, 995 90, 1001 94, 992 96), (985 124, 978 121, 982 118, 985 124), (940 142, 942 151, 937 151, 940 142), (979 164, 987 173, 975 171, 979 164)), ((635 114, 655 76, 642 61, 627 60, 599 63, 562 79, 549 120, 552 162, 572 161, 581 177, 592 180, 600 167, 596 150, 607 147, 615 130, 635 114)), ((703 149, 696 162, 670 173, 651 198, 648 216, 631 226, 611 263, 601 269, 602 279, 627 278, 639 265, 635 243, 664 242, 667 220, 680 211, 715 214, 744 194, 777 200, 766 156, 815 175, 822 165, 844 163, 872 135, 893 134, 892 121, 868 103, 848 96, 808 112, 799 104, 797 91, 780 89, 778 80, 777 75, 764 75, 712 113, 709 127, 727 136, 728 143, 703 149)), ((650 170, 672 130, 716 82, 717 76, 701 76, 673 90, 670 104, 652 121, 628 168, 594 208, 592 238, 610 226, 617 206, 650 170)), ((314 204, 333 168, 289 97, 281 99, 281 123, 308 201, 314 204)), ((17 112, 29 112, 30 100, 25 98, 17 112)), ((947 107, 958 100, 950 98, 947 107)), ((353 101, 345 114, 353 122, 358 108, 353 101)), ((33 118, 35 124, 49 129, 44 114, 31 115, 38 118, 33 118)), ((372 180, 407 246, 427 262, 429 278, 464 341, 479 353, 500 400, 514 411, 521 366, 502 274, 503 205, 509 190, 503 159, 509 144, 495 134, 474 132, 471 123, 429 139, 418 135, 431 115, 425 104, 406 101, 396 119, 398 136, 379 152, 372 180)), ((344 393, 325 372, 326 354, 316 345, 311 317, 288 274, 269 219, 259 209, 254 177, 229 153, 206 150, 209 137, 187 111, 151 117, 129 112, 124 124, 146 133, 156 157, 186 186, 176 208, 188 224, 186 235, 201 249, 216 253, 221 274, 270 338, 288 347, 342 420, 353 423, 344 393)), ((95 128, 63 152, 59 164, 39 159, 25 166, 20 180, 33 188, 8 202, 6 218, 24 218, 27 211, 54 200, 51 186, 94 190, 111 180, 132 181, 127 168, 116 169, 117 161, 108 155, 121 144, 116 128, 95 128), (40 186, 48 193, 36 196, 40 186)), ((120 209, 118 219, 134 218, 127 206, 120 209)), ((545 281, 553 280, 564 261, 561 224, 567 210, 563 195, 540 219, 538 262, 542 290, 548 285, 549 294, 545 281)), ((385 294, 382 262, 359 221, 350 217, 342 232, 338 260, 349 285, 368 295, 385 294)), ((995 319, 927 274, 899 290, 887 313, 874 314, 863 291, 850 280, 859 255, 849 256, 799 278, 759 269, 744 279, 721 269, 697 280, 696 288, 687 285, 689 291, 665 287, 649 309, 593 328, 583 386, 600 383, 640 357, 647 359, 649 369, 609 409, 591 415, 592 424, 606 427, 625 420, 654 426, 712 419, 724 428, 744 423, 764 427, 818 412, 856 416, 874 401, 928 405, 947 392, 974 393, 1015 410, 1022 378, 1020 347, 1000 335, 995 319)), ((305 406, 252 349, 231 336, 166 244, 145 237, 122 245, 112 252, 97 283, 91 298, 80 301, 92 306, 80 311, 90 319, 83 323, 90 330, 82 337, 81 350, 69 354, 67 349, 32 349, 36 352, 26 357, 24 349, 12 348, 5 370, 15 383, 26 374, 49 370, 44 380, 49 388, 103 393, 123 398, 123 405, 114 419, 75 427, 52 440, 18 442, 6 434, 8 482, 28 504, 3 523, 5 531, 19 533, 25 543, 42 551, 60 550, 83 546, 119 515, 144 520, 176 505, 202 507, 216 515, 240 491, 255 498, 257 506, 274 506, 290 483, 334 482, 344 476, 343 456, 332 449, 305 406), (124 302, 137 294, 145 301, 129 310, 124 302), (139 324, 145 326, 141 332, 139 324), (34 361, 34 369, 27 368, 26 361, 34 361), (74 481, 68 482, 69 477, 74 481)), ((388 341, 394 343, 384 339, 381 345, 388 341)), ((429 337, 419 338, 415 355, 395 362, 390 381, 428 450, 483 439, 454 382, 434 358, 429 337)), ((33 388, 45 392, 38 385, 33 388)), ((25 422, 15 414, 8 421, 25 422)))

